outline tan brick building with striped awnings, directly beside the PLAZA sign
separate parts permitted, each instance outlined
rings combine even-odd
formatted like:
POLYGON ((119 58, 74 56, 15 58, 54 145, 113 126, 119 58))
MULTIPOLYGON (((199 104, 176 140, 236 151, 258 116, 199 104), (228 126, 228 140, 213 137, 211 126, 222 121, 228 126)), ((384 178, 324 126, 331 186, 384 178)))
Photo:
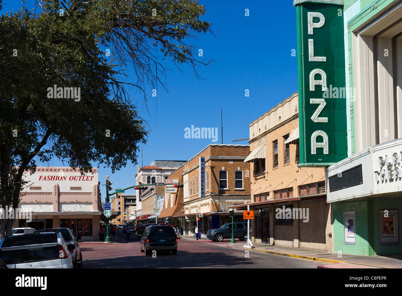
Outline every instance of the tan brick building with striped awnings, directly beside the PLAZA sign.
POLYGON ((298 115, 293 93, 249 125, 251 153, 244 161, 251 172, 252 241, 332 250, 324 168, 298 166, 298 115))

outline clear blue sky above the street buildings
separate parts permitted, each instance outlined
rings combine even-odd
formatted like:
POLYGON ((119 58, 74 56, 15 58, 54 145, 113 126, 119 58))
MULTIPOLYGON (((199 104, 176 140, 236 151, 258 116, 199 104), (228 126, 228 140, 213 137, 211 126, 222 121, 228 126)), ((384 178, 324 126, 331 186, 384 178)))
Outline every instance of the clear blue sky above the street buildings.
MULTIPOLYGON (((28 7, 35 3, 27 2, 28 7)), ((169 93, 158 87, 157 96, 152 97, 149 90, 148 111, 142 109, 142 97, 131 93, 138 97, 140 115, 148 120, 151 129, 143 150, 144 166, 153 159, 188 160, 207 145, 220 144, 221 108, 224 144, 248 138, 250 122, 297 91, 297 58, 291 56, 291 50, 296 48, 296 11, 292 0, 199 2, 206 6, 204 19, 212 24, 216 35, 200 35, 199 40, 192 41, 203 50, 203 58, 215 61, 197 69, 203 79, 197 80, 189 66, 183 66, 182 74, 168 65, 171 70, 165 82, 169 93), (244 15, 246 8, 248 17, 244 15), (249 97, 244 96, 245 89, 249 89, 249 97), (185 139, 185 128, 191 125, 218 128, 217 142, 185 139)), ((21 1, 4 1, 1 13, 20 7, 21 1)), ((141 151, 138 162, 141 165, 141 151)), ((53 159, 50 165, 62 163, 53 159)), ((135 184, 136 172, 136 164, 131 163, 115 174, 109 168, 98 170, 99 180, 103 182, 108 174, 114 188, 135 184)), ((105 187, 101 190, 104 199, 105 187)))

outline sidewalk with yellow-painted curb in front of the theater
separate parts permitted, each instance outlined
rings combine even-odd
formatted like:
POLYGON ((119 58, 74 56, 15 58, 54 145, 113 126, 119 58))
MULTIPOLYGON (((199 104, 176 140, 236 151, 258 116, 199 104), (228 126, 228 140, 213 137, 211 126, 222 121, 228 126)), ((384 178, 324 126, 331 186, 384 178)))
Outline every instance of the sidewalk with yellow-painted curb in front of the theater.
MULTIPOLYGON (((195 240, 194 236, 181 236, 185 240, 195 240)), ((207 240, 207 238, 201 238, 201 240, 207 240)), ((211 242, 211 241, 209 241, 211 242)), ((272 255, 287 256, 299 259, 314 260, 318 262, 326 263, 350 263, 365 265, 367 267, 379 267, 379 268, 402 268, 402 254, 395 254, 390 256, 360 256, 342 254, 342 257, 338 257, 338 253, 325 252, 314 249, 306 248, 292 248, 285 246, 271 246, 269 244, 255 243, 253 249, 244 248, 244 242, 236 239, 236 244, 230 244, 230 240, 225 240, 225 244, 216 244, 217 246, 223 246, 227 248, 237 248, 242 250, 252 250, 272 255)), ((211 242, 214 243, 214 242, 211 242)), ((333 265, 333 268, 338 268, 339 264, 333 265)), ((331 268, 331 265, 326 265, 326 268, 331 268)), ((353 266, 357 268, 357 266, 353 266)))

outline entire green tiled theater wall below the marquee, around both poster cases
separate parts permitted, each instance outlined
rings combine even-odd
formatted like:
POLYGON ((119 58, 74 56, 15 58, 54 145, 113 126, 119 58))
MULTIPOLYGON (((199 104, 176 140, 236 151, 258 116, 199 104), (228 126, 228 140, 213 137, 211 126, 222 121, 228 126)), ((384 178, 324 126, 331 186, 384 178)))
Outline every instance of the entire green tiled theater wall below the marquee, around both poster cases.
MULTIPOLYGON (((380 246, 378 230, 379 209, 399 209, 402 212, 402 198, 361 199, 357 201, 340 201, 333 204, 334 217, 334 252, 339 250, 352 255, 385 255, 402 253, 401 244, 397 246, 380 246), (356 244, 344 243, 343 212, 355 211, 356 244)), ((401 224, 401 223, 399 223, 401 224)), ((402 231, 399 229, 399 237, 402 231)))

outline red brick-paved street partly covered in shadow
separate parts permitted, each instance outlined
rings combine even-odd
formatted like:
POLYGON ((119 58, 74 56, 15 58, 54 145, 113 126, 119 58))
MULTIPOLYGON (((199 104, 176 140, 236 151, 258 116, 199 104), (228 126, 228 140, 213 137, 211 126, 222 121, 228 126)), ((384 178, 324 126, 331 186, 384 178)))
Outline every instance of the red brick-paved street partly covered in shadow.
MULTIPOLYGON (((121 230, 116 235, 125 238, 121 230)), ((178 240, 177 255, 157 253, 156 258, 140 252, 137 234, 121 244, 80 244, 82 268, 317 268, 324 263, 224 247, 230 240, 178 240)))

